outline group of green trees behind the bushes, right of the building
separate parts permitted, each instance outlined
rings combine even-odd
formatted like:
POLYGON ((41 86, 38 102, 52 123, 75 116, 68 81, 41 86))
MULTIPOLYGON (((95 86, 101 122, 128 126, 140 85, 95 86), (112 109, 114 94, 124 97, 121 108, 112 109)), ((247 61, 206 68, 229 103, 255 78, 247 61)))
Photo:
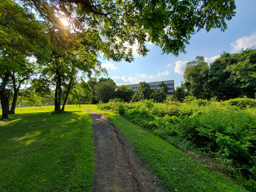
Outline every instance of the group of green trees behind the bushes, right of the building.
POLYGON ((185 96, 218 100, 248 97, 256 92, 256 49, 240 53, 223 53, 208 65, 203 56, 187 62, 181 87, 172 92, 172 99, 182 101, 185 96))

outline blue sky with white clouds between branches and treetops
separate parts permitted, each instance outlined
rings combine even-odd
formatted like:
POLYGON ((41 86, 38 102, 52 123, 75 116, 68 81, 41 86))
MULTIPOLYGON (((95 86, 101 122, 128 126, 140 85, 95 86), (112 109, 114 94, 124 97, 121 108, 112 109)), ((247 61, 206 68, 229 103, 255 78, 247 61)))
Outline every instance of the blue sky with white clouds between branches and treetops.
POLYGON ((174 80, 176 87, 183 80, 186 62, 194 60, 196 55, 204 56, 205 61, 211 63, 223 52, 238 53, 242 48, 256 48, 256 0, 235 0, 235 3, 236 14, 226 20, 227 29, 224 32, 200 30, 191 36, 185 54, 177 57, 162 54, 160 47, 146 42, 150 51, 144 57, 133 53, 135 59, 131 63, 108 61, 101 56, 101 66, 107 69, 108 76, 100 77, 110 77, 117 85, 174 80))

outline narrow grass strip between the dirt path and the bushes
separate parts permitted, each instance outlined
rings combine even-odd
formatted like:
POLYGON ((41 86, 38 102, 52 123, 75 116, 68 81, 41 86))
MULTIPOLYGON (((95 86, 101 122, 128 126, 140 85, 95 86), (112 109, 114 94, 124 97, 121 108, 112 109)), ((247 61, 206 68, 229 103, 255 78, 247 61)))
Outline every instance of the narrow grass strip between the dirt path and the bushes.
POLYGON ((140 159, 170 191, 246 191, 220 173, 198 165, 196 160, 149 131, 108 111, 105 114, 135 147, 140 159))

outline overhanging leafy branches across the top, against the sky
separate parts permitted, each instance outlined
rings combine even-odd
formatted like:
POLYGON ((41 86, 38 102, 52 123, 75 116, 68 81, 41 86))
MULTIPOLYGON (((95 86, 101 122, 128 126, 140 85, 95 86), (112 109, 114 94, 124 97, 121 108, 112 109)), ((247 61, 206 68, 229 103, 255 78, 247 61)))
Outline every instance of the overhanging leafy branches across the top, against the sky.
MULTIPOLYGON (((75 28, 97 28, 106 38, 104 52, 115 60, 132 60, 129 45, 137 43, 137 52, 148 51, 146 40, 162 47, 165 53, 178 55, 185 52, 195 28, 226 29, 225 19, 234 16, 234 0, 24 0, 33 6, 42 18, 56 25, 60 12, 65 14, 75 28), (55 10, 54 10, 55 9, 55 10), (53 12, 55 14, 53 14, 53 12), (118 51, 115 54, 112 50, 118 51), (125 51, 128 51, 126 54, 125 51), (126 56, 125 56, 126 55, 126 56), (113 56, 113 55, 112 55, 113 56)), ((51 29, 53 32, 54 30, 51 29)), ((106 56, 109 58, 108 56, 106 56)))

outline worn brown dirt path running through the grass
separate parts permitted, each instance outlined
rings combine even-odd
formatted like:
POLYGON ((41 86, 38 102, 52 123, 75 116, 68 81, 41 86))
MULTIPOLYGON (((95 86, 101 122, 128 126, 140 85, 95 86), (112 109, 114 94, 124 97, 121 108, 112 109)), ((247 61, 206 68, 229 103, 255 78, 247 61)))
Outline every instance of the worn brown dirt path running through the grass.
POLYGON ((133 153, 133 147, 114 124, 89 109, 94 131, 94 192, 167 191, 133 153))

